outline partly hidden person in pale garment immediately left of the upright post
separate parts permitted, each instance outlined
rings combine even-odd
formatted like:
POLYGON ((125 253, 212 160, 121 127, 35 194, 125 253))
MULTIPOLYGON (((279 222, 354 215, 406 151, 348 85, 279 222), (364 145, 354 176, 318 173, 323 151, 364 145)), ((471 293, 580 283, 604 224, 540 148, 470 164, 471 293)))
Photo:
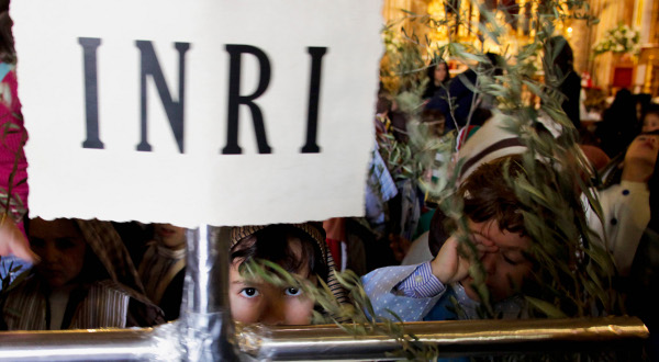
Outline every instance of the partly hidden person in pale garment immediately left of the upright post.
POLYGON ((179 317, 186 278, 186 228, 154 224, 154 238, 146 244, 139 263, 139 278, 146 296, 165 313, 165 319, 179 317))

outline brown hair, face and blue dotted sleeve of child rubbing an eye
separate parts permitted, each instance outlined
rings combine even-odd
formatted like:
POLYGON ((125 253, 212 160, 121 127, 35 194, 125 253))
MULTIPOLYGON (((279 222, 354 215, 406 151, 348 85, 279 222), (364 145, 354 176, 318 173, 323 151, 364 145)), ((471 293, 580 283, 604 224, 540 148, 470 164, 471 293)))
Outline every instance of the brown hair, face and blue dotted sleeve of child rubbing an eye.
POLYGON ((481 302, 469 274, 471 260, 480 260, 485 271, 484 284, 491 293, 496 313, 516 317, 524 305, 515 294, 532 271, 527 258, 530 238, 520 213, 521 203, 507 184, 522 172, 518 157, 503 157, 477 168, 459 189, 468 218, 467 233, 476 246, 468 250, 459 242, 459 231, 442 246, 436 258, 421 265, 383 268, 364 278, 375 312, 391 317, 387 309, 403 320, 457 319, 451 312, 456 298, 467 317, 477 316, 481 302))

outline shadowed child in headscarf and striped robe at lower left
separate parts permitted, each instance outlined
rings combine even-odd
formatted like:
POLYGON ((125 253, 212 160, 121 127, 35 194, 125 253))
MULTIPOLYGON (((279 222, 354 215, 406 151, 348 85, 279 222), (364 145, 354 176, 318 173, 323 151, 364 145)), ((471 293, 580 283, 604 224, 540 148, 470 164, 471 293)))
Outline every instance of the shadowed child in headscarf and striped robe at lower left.
POLYGON ((163 312, 143 294, 137 271, 110 223, 35 218, 26 224, 42 262, 5 291, 8 330, 149 327, 163 312))

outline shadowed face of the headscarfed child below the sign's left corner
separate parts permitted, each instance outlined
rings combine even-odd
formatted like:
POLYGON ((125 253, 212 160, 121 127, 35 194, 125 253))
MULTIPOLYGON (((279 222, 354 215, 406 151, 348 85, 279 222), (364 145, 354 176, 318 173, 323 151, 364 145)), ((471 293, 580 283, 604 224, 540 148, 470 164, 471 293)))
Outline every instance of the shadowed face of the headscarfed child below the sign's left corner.
POLYGON ((30 247, 42 261, 36 272, 52 289, 75 281, 85 264, 87 242, 72 220, 30 222, 30 247))

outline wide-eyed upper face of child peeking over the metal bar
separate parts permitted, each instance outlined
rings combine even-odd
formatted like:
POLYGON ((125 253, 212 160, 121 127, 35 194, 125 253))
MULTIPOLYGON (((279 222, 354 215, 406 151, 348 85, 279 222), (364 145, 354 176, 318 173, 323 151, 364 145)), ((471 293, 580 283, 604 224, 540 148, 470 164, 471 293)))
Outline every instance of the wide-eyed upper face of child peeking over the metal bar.
MULTIPOLYGON (((301 256, 300 239, 290 238, 295 254, 301 256)), ((314 302, 295 286, 277 286, 260 280, 250 280, 239 273, 243 260, 235 260, 230 269, 230 303, 234 320, 266 325, 309 325, 314 302)), ((293 273, 309 279, 308 267, 293 273)), ((310 282, 315 282, 311 279, 310 282)))

